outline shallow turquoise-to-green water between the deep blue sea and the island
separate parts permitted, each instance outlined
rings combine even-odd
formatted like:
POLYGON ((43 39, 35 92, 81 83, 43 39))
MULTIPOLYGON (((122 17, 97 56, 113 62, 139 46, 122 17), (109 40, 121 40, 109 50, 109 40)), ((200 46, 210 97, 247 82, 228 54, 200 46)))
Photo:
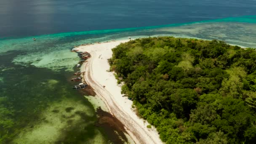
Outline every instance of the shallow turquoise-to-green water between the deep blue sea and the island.
POLYGON ((0 139, 7 143, 109 143, 96 127, 93 103, 71 89, 75 45, 119 38, 170 35, 218 39, 256 48, 256 16, 154 27, 68 32, 0 40, 0 139), (68 112, 66 109, 72 111, 68 112), (69 133, 75 133, 71 141, 69 133), (77 134, 77 135, 76 135, 77 134))

